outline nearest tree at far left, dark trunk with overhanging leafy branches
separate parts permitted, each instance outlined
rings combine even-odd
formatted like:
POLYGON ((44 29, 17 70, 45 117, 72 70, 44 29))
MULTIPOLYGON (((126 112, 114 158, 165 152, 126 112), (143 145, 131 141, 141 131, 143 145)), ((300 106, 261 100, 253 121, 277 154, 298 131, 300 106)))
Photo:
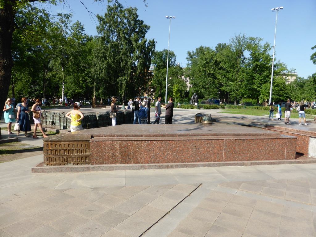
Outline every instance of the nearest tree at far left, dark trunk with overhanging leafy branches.
MULTIPOLYGON (((94 0, 94 2, 101 2, 102 0, 94 0)), ((115 3, 119 3, 119 0, 113 0, 115 3)), ((108 0, 108 2, 113 2, 108 0)), ((143 0, 145 3, 145 0, 143 0)), ((50 14, 44 9, 39 9, 36 7, 34 0, 0 0, 0 101, 5 101, 13 68, 13 58, 11 55, 11 46, 13 40, 13 33, 16 29, 20 29, 23 32, 23 38, 36 42, 37 37, 39 37, 43 32, 40 31, 41 28, 46 28, 46 25, 50 24, 47 21, 47 17, 50 14), (19 12, 23 12, 22 15, 29 15, 30 21, 19 22, 19 12), (37 26, 39 26, 37 28, 37 26), (44 27, 43 27, 44 26, 44 27)), ((42 0, 42 3, 67 3, 65 0, 42 0)), ((82 3, 82 1, 80 1, 82 3)), ((146 3, 145 3, 146 5, 146 3)), ((46 33, 46 32, 45 32, 46 33)), ((36 45, 36 44, 35 44, 36 45)), ((2 115, 2 110, 0 111, 0 116, 2 115)))

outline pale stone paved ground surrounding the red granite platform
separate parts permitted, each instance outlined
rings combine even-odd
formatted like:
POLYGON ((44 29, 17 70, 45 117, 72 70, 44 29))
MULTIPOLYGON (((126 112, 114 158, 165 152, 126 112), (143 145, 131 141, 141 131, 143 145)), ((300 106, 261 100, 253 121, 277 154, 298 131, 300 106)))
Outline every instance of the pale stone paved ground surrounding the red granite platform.
MULTIPOLYGON (((174 123, 183 124, 197 112, 252 125, 280 122, 175 112, 174 123)), ((295 120, 283 125, 298 126, 295 120)), ((0 236, 316 236, 316 164, 31 173, 42 161, 0 164, 0 236)))

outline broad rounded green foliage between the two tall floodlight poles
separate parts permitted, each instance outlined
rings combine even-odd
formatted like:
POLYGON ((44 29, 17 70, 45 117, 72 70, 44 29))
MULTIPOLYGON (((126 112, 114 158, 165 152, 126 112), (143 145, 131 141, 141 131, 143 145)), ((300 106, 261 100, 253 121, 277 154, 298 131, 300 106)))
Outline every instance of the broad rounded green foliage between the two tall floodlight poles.
MULTIPOLYGON (((233 100, 235 104, 246 98, 257 103, 267 100, 270 94, 271 46, 261 41, 260 38, 239 34, 228 44, 219 43, 215 50, 200 46, 188 52, 185 73, 190 77, 194 90, 204 98, 220 96, 225 102, 233 100)), ((274 65, 276 78, 286 67, 279 61, 274 65)), ((280 77, 273 82, 274 98, 283 98, 280 93, 285 93, 284 90, 285 81, 280 77)))

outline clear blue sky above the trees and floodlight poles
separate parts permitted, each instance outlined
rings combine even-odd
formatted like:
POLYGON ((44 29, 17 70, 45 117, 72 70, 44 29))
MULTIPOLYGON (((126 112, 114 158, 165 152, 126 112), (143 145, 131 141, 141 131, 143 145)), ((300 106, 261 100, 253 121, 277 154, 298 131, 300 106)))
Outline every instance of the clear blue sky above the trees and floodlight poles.
MULTIPOLYGON (((104 15, 106 3, 84 1, 94 14, 104 15)), ((106 2, 106 1, 105 1, 106 2)), ((199 46, 215 49, 218 43, 228 43, 235 34, 262 38, 262 43, 273 46, 276 12, 272 8, 284 7, 278 12, 276 28, 275 60, 294 68, 299 76, 307 78, 316 73, 316 65, 310 60, 316 45, 316 1, 315 0, 121 0, 125 7, 137 7, 139 19, 150 26, 148 39, 154 39, 156 50, 167 49, 169 20, 171 20, 170 50, 176 54, 182 67, 187 64, 188 51, 199 46)), ((88 35, 96 35, 96 19, 92 19, 79 1, 70 1, 73 18, 80 21, 88 35)), ((58 6, 54 10, 68 13, 69 9, 58 6)), ((273 51, 271 50, 271 55, 273 51)))

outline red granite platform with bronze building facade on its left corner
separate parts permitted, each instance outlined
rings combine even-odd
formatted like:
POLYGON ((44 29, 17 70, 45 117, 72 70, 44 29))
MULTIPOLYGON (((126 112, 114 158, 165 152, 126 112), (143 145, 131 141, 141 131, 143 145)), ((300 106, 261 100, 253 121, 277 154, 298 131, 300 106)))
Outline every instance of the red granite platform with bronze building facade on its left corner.
POLYGON ((119 125, 45 138, 44 164, 294 160, 295 147, 296 137, 238 125, 119 125))

